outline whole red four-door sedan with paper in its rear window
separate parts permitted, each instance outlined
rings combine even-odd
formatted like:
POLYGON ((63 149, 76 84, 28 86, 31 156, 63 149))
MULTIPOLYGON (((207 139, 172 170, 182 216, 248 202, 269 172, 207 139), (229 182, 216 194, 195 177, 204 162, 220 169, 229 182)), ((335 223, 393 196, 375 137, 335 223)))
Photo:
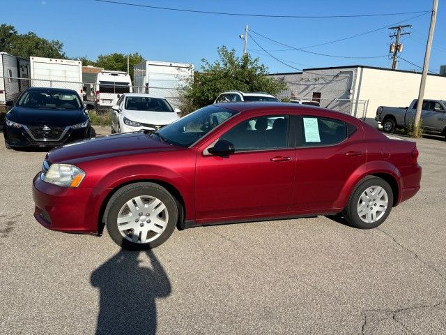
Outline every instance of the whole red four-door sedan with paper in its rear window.
POLYGON ((154 248, 179 229, 341 214, 374 228, 420 189, 416 144, 286 103, 210 105, 155 133, 50 151, 33 180, 46 228, 154 248))

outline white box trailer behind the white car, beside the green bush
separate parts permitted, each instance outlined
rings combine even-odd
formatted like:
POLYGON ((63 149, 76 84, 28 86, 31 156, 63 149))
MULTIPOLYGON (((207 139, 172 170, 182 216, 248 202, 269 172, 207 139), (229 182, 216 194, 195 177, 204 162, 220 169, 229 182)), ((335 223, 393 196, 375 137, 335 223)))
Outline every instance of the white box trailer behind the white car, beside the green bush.
POLYGON ((194 77, 194 66, 169 61, 142 61, 133 68, 133 91, 167 98, 180 107, 180 89, 194 77))

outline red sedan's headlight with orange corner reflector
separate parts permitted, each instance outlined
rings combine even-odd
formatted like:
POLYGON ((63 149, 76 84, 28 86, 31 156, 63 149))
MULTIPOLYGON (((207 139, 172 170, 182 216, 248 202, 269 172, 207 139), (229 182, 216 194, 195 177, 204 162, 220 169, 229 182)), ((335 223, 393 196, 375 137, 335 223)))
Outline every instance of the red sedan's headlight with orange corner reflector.
POLYGON ((70 164, 52 164, 42 179, 50 184, 77 187, 85 177, 85 172, 70 164))

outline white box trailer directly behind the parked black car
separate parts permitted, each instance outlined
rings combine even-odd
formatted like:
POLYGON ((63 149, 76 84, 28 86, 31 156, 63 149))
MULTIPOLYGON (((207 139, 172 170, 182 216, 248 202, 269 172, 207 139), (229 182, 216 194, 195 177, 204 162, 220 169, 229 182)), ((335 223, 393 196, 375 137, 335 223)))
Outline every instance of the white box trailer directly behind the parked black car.
POLYGON ((82 61, 32 56, 29 60, 33 87, 74 89, 82 97, 82 61))

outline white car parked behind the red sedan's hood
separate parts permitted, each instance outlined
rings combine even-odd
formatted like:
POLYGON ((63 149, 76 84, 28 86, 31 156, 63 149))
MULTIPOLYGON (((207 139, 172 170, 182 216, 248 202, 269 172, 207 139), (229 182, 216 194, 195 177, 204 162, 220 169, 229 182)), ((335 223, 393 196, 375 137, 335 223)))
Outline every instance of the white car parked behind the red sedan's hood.
POLYGON ((123 94, 112 110, 112 133, 157 130, 180 118, 178 108, 151 94, 123 94))

